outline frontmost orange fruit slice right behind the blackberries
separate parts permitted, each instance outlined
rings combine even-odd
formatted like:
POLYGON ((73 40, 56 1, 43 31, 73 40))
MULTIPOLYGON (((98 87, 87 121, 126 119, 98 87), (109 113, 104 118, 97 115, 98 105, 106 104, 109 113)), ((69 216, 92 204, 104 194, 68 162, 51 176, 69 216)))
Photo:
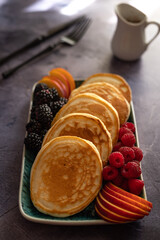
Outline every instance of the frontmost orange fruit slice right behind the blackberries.
POLYGON ((45 83, 49 88, 56 88, 60 97, 64 97, 64 91, 60 84, 51 80, 49 76, 44 76, 39 83, 45 83))

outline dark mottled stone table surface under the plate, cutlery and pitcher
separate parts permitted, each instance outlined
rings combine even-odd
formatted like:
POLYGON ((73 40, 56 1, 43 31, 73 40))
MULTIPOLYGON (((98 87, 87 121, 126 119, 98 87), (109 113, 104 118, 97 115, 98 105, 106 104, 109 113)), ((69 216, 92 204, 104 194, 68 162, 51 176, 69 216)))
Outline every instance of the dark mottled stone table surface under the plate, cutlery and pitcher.
MULTIPOLYGON (((11 77, 0 79, 0 239, 157 240, 160 236, 159 36, 139 60, 123 62, 111 51, 111 39, 116 28, 114 7, 120 1, 97 0, 70 16, 62 15, 59 10, 71 1, 51 2, 8 0, 0 3, 0 57, 77 15, 87 14, 93 20, 76 46, 61 48, 25 65, 11 77), (29 8, 34 3, 43 2, 46 10, 29 8), (75 79, 84 79, 98 72, 117 73, 130 84, 140 147, 144 152, 142 172, 148 200, 153 203, 148 217, 124 225, 54 226, 27 221, 20 214, 18 193, 31 89, 36 81, 56 67, 68 69, 75 79)), ((160 22, 158 1, 136 2, 140 10, 146 11, 149 20, 160 22)), ((150 35, 152 29, 147 31, 150 35)), ((50 41, 56 41, 59 35, 7 62, 1 66, 0 73, 43 49, 50 41)))

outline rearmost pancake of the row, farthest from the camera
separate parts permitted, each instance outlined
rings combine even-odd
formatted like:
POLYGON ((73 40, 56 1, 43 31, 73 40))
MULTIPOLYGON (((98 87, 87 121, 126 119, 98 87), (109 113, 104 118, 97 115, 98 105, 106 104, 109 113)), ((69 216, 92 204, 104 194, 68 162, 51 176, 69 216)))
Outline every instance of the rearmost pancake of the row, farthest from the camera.
POLYGON ((113 73, 97 73, 87 78, 82 85, 94 82, 107 82, 114 85, 123 94, 126 100, 130 103, 132 99, 132 91, 126 80, 120 75, 113 73))

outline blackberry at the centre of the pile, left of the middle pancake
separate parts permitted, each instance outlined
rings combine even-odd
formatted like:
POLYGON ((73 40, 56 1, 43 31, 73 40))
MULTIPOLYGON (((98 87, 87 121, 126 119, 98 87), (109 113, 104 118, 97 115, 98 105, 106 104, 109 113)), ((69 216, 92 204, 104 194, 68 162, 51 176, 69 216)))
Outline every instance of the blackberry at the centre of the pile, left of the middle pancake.
POLYGON ((34 116, 35 119, 43 125, 43 127, 49 129, 53 120, 53 114, 51 108, 47 104, 42 104, 35 108, 34 116))

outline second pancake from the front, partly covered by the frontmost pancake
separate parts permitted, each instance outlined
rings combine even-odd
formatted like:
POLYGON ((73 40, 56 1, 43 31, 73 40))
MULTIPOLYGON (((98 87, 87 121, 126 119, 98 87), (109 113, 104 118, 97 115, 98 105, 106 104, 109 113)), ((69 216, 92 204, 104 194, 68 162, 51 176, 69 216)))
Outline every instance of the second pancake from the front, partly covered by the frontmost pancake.
POLYGON ((91 141, 98 149, 103 166, 112 151, 112 139, 104 123, 87 113, 71 113, 60 118, 44 137, 44 146, 51 139, 59 136, 77 136, 91 141))

